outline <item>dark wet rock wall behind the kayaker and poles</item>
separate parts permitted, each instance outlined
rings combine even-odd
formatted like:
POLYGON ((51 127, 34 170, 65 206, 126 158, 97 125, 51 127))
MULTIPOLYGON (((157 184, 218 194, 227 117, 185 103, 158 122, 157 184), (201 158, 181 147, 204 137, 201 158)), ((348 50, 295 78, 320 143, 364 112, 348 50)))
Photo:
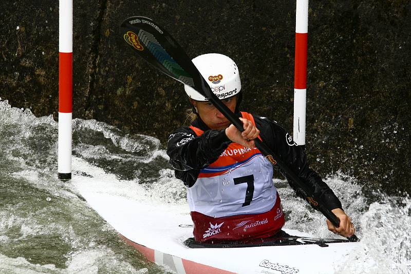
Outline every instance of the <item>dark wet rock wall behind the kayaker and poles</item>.
MULTIPOLYGON (((295 3, 74 2, 73 116, 163 143, 184 123, 182 85, 125 47, 128 16, 153 18, 189 56, 236 61, 242 108, 292 131, 295 3)), ((320 174, 341 170, 368 189, 411 190, 411 3, 311 1, 307 154, 320 174)), ((0 97, 34 114, 58 111, 58 2, 0 3, 0 97)), ((57 115, 55 115, 57 119, 57 115)))

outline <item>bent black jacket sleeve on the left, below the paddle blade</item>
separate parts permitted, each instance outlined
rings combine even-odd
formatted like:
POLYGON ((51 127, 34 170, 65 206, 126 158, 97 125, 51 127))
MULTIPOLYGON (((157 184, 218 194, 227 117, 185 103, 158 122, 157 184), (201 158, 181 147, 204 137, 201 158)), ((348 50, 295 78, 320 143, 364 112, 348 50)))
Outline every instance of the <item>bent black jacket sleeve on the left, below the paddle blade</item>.
POLYGON ((188 187, 193 186, 200 170, 216 161, 230 143, 225 130, 207 130, 197 136, 189 127, 177 129, 167 144, 176 178, 188 187))

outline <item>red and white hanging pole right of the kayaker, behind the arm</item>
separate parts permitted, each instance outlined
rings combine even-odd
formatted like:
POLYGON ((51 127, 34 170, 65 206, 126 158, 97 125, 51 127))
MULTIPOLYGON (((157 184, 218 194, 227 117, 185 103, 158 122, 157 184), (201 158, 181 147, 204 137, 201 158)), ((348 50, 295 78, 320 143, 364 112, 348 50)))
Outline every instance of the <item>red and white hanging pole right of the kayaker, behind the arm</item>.
POLYGON ((295 12, 294 131, 293 139, 305 145, 307 94, 308 0, 297 0, 295 12))

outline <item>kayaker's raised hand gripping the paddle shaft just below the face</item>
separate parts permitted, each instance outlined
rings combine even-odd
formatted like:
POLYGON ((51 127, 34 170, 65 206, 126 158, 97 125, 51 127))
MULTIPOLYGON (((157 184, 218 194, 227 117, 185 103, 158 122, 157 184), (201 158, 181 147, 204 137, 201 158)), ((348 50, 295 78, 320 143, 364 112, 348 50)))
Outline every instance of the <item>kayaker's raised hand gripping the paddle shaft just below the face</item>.
POLYGON ((242 126, 244 128, 243 132, 239 132, 238 129, 231 124, 226 128, 227 137, 240 145, 248 148, 255 147, 254 139, 260 134, 260 131, 247 119, 240 118, 242 126))

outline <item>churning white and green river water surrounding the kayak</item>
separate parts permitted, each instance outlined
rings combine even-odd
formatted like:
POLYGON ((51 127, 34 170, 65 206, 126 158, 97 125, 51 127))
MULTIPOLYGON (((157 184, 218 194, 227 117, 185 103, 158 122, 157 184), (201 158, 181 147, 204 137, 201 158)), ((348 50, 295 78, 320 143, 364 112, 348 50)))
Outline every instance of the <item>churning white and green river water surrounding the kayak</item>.
MULTIPOLYGON (((57 179, 57 123, 51 116, 36 118, 30 110, 0 101, 0 140, 0 272, 169 272, 128 247, 70 182, 57 179)), ((99 176, 110 193, 185 203, 182 183, 151 136, 126 135, 98 121, 75 119, 73 154, 73 175, 99 176), (85 165, 94 166, 92 175, 85 165)), ((365 197, 356 180, 341 173, 325 181, 341 198, 362 239, 336 272, 411 273, 409 197, 378 192, 365 197), (375 200, 379 202, 368 202, 375 200)), ((274 183, 289 219, 286 228, 338 237, 286 182, 274 183)))

